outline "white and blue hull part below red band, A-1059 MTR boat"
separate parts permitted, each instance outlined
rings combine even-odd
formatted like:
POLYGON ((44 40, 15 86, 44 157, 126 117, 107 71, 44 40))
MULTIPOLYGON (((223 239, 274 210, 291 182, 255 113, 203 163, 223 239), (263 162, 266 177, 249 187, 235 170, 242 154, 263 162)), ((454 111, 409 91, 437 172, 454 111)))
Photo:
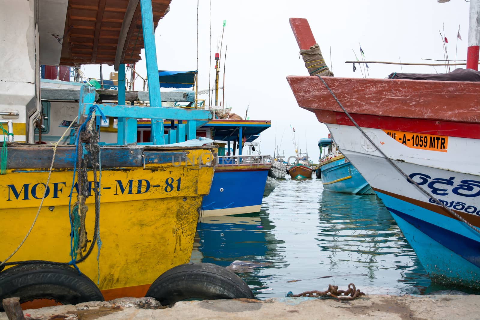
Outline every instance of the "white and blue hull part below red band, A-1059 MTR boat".
MULTIPOLYGON (((392 213, 431 279, 480 288, 480 233, 410 183, 378 150, 365 143, 355 127, 327 127, 342 154, 355 164, 392 213)), ((413 181, 470 224, 480 226, 480 140, 448 137, 448 152, 440 152, 410 148, 384 130, 364 130, 413 181), (465 150, 468 157, 462 157, 465 150)))

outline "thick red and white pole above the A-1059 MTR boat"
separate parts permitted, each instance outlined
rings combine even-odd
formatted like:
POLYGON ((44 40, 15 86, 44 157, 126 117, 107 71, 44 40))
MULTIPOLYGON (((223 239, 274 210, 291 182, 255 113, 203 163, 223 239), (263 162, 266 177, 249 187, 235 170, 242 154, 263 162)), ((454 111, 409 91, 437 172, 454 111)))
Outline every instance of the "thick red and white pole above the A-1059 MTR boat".
POLYGON ((478 70, 480 51, 480 0, 470 0, 467 69, 478 70))

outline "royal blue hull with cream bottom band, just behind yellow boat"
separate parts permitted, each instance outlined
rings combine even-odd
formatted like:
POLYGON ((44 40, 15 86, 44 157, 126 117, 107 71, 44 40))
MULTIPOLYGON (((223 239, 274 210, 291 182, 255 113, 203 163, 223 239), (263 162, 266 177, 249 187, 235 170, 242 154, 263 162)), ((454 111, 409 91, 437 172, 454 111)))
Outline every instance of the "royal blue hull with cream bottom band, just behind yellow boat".
POLYGON ((218 165, 202 216, 258 213, 271 164, 218 165))

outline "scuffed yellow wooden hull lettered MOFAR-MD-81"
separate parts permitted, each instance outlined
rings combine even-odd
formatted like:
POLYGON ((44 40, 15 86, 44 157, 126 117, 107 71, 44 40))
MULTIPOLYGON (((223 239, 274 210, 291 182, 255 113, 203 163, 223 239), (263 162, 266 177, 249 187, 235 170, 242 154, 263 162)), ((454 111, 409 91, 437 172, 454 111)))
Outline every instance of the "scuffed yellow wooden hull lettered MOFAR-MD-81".
MULTIPOLYGON (((19 152, 12 147, 8 149, 12 161, 19 158, 19 152)), ((63 160, 67 160, 59 161, 60 167, 52 170, 38 220, 10 261, 71 261, 69 196, 73 171, 68 168, 67 149, 71 151, 74 147, 59 147, 57 159, 65 155, 63 160)), ((215 154, 211 148, 156 148, 138 154, 139 149, 133 146, 102 150, 99 230, 102 247, 98 262, 94 249, 78 267, 92 281, 99 281, 98 287, 106 300, 144 296, 160 274, 189 261, 202 198, 210 190, 214 173, 215 154), (125 152, 120 152, 122 149, 125 152), (142 154, 146 158, 145 167, 142 154), (126 166, 112 167, 113 161, 126 166)), ((39 150, 42 147, 36 146, 29 154, 40 156, 39 150)), ((45 146, 44 150, 51 161, 51 146, 45 146)), ((8 169, 0 179, 2 261, 22 241, 33 222, 48 178, 48 169, 19 166, 17 163, 17 168, 8 169)), ((92 172, 88 172, 88 180, 93 181, 92 172)), ((74 187, 72 205, 76 195, 74 187)), ((88 197, 86 204, 89 210, 85 225, 91 240, 94 197, 88 197)))

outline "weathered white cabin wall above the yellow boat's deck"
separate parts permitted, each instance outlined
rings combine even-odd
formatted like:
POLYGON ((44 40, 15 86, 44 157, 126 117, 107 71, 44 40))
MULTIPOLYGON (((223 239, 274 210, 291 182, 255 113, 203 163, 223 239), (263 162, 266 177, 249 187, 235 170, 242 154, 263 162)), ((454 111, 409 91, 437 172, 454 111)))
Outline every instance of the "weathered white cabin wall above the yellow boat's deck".
POLYGON ((0 119, 13 121, 16 142, 27 141, 26 123, 38 110, 36 2, 0 0, 0 111, 19 114, 0 116, 0 119))

